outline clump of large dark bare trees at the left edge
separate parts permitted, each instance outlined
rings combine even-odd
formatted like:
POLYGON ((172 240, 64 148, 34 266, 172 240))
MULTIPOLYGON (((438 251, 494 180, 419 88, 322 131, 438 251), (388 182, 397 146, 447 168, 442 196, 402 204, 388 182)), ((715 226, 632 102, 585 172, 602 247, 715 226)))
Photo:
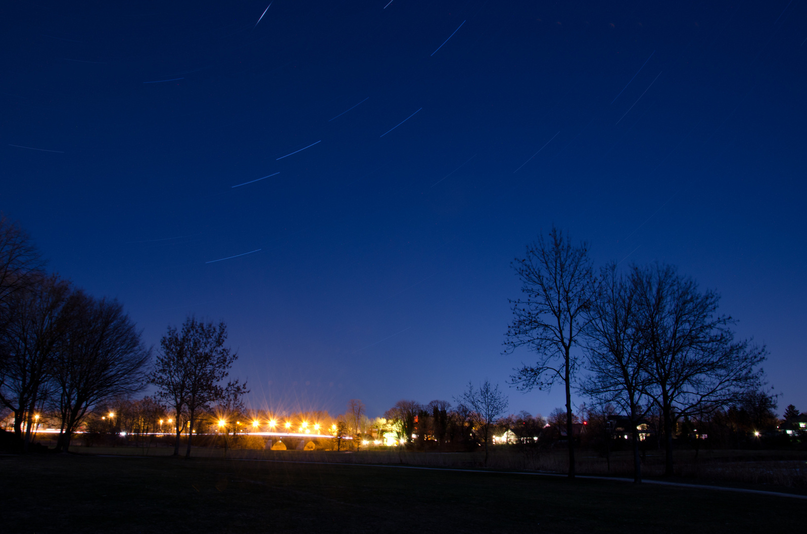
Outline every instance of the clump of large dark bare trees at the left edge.
POLYGON ((56 450, 67 451, 96 405, 142 389, 150 351, 119 302, 44 265, 27 233, 0 215, 0 403, 25 449, 36 413, 56 412, 56 450))

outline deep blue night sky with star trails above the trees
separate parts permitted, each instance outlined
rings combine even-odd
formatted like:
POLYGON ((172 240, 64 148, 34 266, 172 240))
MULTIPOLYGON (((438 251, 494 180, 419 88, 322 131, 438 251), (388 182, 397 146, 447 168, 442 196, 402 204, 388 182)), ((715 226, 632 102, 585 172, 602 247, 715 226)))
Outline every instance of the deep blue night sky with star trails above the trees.
POLYGON ((718 290, 807 409, 805 2, 386 3, 4 2, 0 210, 148 344, 224 319, 256 407, 506 388, 555 223, 718 290))

